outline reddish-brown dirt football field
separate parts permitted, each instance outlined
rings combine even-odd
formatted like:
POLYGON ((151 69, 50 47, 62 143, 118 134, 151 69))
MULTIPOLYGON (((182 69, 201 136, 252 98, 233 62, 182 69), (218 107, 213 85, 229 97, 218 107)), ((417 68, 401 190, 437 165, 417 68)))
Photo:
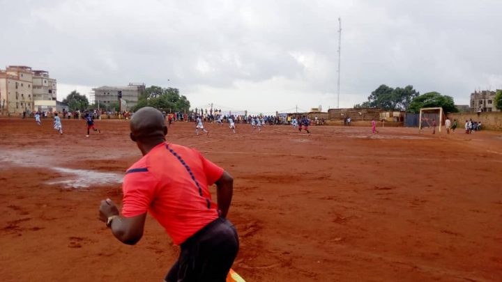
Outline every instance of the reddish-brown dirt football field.
MULTIPOLYGON (((140 152, 127 121, 96 125, 0 119, 1 281, 162 281, 176 260, 151 217, 136 246, 98 221, 140 152)), ((246 281, 502 281, 501 132, 206 127, 167 139, 234 175, 246 281)))

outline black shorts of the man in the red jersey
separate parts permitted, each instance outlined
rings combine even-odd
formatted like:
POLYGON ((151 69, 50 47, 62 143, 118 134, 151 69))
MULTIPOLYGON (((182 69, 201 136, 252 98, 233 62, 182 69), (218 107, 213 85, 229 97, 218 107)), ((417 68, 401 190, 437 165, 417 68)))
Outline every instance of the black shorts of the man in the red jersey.
POLYGON ((222 217, 181 244, 181 253, 165 277, 167 282, 225 282, 239 248, 236 228, 222 217))

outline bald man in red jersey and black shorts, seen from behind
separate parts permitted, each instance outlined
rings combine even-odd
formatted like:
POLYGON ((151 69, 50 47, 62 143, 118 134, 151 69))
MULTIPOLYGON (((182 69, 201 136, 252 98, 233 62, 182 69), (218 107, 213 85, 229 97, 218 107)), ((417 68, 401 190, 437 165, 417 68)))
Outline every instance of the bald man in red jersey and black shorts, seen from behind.
POLYGON ((234 225, 226 219, 233 178, 197 150, 167 143, 167 127, 157 109, 137 111, 130 130, 143 157, 124 177, 122 216, 107 199, 101 201, 100 220, 121 242, 136 244, 150 212, 181 246, 165 281, 225 281, 239 244, 234 225), (218 205, 208 190, 213 184, 218 205))

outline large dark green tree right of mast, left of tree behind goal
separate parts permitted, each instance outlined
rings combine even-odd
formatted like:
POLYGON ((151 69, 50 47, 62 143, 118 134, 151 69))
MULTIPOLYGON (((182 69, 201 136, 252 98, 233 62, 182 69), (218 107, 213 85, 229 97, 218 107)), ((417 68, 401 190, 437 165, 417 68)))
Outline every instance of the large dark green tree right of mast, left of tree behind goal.
POLYGON ((405 110, 414 97, 420 95, 409 85, 404 88, 392 88, 382 84, 368 97, 367 102, 356 104, 356 108, 380 108, 386 111, 405 110))

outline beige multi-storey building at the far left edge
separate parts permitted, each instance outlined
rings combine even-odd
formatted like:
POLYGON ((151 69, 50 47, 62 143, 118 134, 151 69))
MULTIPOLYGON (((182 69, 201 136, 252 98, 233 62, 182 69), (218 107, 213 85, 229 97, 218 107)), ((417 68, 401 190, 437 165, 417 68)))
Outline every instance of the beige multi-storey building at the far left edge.
POLYGON ((24 65, 0 70, 0 112, 33 111, 33 72, 24 65))

